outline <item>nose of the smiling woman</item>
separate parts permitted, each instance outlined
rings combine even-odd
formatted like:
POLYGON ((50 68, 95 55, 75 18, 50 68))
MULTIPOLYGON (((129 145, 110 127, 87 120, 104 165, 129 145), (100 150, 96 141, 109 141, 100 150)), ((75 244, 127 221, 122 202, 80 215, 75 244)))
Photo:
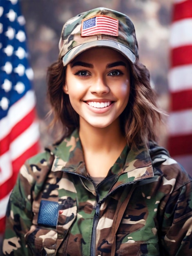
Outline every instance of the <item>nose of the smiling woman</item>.
POLYGON ((91 92, 93 94, 107 94, 110 91, 105 79, 101 76, 97 77, 91 86, 91 92))

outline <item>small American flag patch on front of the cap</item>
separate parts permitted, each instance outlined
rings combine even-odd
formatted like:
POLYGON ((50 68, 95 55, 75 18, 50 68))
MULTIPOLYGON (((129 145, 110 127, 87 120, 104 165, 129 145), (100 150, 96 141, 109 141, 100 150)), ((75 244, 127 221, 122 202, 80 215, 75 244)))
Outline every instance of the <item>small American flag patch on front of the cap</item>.
POLYGON ((96 15, 82 20, 81 36, 98 34, 118 36, 118 20, 105 15, 96 15))

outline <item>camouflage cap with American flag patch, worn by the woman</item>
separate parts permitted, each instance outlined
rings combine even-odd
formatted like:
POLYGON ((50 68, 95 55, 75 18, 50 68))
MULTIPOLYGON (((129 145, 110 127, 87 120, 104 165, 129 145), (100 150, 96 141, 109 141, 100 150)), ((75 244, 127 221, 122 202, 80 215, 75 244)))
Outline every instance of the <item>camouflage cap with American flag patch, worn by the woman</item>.
POLYGON ((99 7, 80 13, 65 23, 59 41, 59 57, 63 57, 64 66, 93 47, 115 49, 134 63, 138 58, 138 45, 130 18, 99 7))

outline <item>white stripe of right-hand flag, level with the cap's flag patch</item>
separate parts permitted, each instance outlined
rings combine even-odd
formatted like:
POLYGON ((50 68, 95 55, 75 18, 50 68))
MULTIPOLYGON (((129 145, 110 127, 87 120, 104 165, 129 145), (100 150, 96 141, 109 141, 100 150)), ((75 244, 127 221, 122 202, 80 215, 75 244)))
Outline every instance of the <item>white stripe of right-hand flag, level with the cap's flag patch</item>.
POLYGON ((192 44, 192 18, 173 22, 170 27, 170 47, 192 44))

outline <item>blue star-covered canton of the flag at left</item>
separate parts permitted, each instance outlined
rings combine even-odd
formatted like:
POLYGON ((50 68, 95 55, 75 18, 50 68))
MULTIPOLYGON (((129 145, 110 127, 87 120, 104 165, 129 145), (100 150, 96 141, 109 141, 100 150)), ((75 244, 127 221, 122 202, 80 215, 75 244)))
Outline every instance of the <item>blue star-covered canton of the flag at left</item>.
POLYGON ((33 71, 29 67, 25 19, 16 0, 0 1, 0 119, 27 91, 33 71), (30 80, 29 80, 30 79, 30 80))

